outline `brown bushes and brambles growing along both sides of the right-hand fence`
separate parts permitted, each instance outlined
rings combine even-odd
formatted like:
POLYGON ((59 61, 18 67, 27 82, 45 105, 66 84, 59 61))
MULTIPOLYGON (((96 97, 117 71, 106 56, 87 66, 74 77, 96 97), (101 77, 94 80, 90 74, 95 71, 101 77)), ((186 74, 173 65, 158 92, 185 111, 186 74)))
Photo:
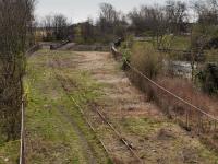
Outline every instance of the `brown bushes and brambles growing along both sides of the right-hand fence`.
MULTIPOLYGON (((164 59, 166 55, 157 52, 152 46, 142 46, 135 44, 132 48, 131 65, 140 70, 143 74, 153 79, 155 82, 174 93, 186 102, 202 108, 206 113, 217 115, 216 107, 218 103, 216 98, 201 92, 191 81, 167 75, 167 70, 164 70, 164 59)), ((178 101, 172 95, 161 91, 153 85, 145 78, 130 69, 128 74, 131 81, 147 96, 147 101, 155 102, 162 112, 169 117, 175 119, 186 130, 206 136, 207 140, 213 140, 209 144, 218 150, 218 139, 215 137, 216 131, 211 132, 213 121, 205 117, 196 109, 191 108, 184 103, 178 101), (208 133, 207 133, 208 132, 208 133)))

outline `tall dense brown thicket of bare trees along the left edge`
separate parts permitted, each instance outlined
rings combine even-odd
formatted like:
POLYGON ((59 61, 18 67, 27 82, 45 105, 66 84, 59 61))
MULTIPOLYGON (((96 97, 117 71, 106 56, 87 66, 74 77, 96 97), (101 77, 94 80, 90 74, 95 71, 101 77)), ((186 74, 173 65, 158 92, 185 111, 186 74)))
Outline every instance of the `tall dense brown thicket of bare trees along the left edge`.
POLYGON ((0 133, 20 132, 23 75, 34 0, 0 0, 0 133))

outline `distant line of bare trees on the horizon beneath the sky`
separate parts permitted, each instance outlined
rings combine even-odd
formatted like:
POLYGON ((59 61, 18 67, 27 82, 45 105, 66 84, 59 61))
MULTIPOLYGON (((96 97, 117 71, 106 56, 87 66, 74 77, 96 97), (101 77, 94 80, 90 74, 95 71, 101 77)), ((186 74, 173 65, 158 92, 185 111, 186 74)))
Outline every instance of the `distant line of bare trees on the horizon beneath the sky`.
POLYGON ((81 44, 107 44, 114 38, 133 34, 153 36, 157 43, 161 43, 164 35, 190 34, 196 28, 196 24, 216 25, 217 3, 217 0, 193 0, 189 3, 168 0, 165 4, 142 4, 128 14, 116 10, 110 3, 100 3, 95 21, 87 19, 85 22, 71 24, 63 14, 46 15, 36 23, 36 28, 44 32, 43 40, 71 39, 81 44))

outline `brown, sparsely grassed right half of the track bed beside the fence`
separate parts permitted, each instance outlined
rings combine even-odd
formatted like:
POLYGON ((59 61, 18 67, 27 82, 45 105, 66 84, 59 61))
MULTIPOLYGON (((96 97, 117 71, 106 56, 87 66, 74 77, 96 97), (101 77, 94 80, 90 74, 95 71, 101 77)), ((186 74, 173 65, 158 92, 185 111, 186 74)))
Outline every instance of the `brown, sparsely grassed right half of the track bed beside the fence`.
POLYGON ((113 161, 137 163, 90 108, 100 109, 146 164, 217 163, 216 155, 146 102, 108 52, 76 52, 73 65, 102 84, 102 98, 86 115, 105 142, 113 161))

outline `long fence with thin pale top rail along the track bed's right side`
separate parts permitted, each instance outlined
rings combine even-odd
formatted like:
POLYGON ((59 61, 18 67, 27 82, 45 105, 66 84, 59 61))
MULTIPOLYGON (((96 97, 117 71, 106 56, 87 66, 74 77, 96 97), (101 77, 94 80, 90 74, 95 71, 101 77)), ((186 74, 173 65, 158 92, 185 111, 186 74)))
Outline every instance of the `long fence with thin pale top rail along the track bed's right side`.
MULTIPOLYGON (((120 58, 121 54, 111 46, 111 51, 116 58, 120 58)), ((146 82, 146 87, 156 94, 156 102, 160 107, 165 107, 165 112, 186 130, 196 132, 197 134, 216 133, 218 131, 218 118, 207 113, 206 109, 193 105, 187 99, 183 99, 177 94, 170 92, 166 87, 159 85, 143 72, 132 66, 126 59, 123 59, 131 71, 143 78, 146 82), (166 98, 167 96, 167 98, 166 98), (166 101, 167 99, 167 101, 166 101), (175 105, 177 104, 177 105, 175 105)))

